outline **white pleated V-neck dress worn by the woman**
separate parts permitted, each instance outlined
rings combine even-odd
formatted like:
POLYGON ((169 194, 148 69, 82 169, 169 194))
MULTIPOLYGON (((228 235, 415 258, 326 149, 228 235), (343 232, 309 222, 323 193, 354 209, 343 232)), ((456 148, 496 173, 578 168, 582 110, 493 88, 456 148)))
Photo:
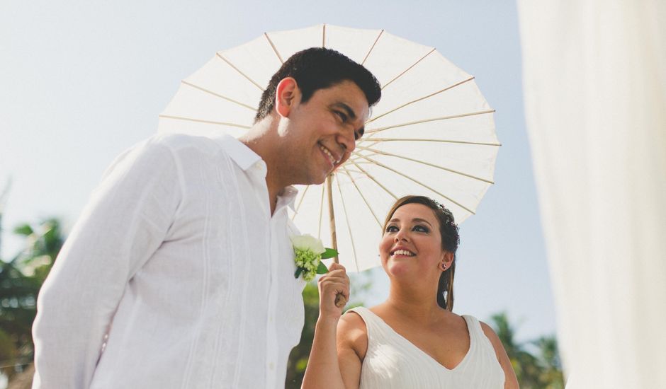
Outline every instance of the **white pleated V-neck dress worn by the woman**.
POLYGON ((368 333, 360 389, 504 388, 504 371, 495 349, 473 316, 463 315, 470 333, 470 349, 458 366, 448 369, 368 308, 351 311, 361 315, 368 333))

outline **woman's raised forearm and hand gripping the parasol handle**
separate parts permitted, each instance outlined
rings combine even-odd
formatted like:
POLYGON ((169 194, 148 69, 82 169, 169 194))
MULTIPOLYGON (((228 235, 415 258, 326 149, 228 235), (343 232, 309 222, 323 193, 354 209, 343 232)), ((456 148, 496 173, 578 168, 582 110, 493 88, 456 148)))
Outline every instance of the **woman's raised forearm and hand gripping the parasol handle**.
POLYGON ((303 389, 346 389, 336 347, 337 326, 342 315, 342 307, 335 306, 335 296, 339 293, 349 300, 349 277, 342 265, 333 264, 319 280, 320 313, 305 368, 303 389))

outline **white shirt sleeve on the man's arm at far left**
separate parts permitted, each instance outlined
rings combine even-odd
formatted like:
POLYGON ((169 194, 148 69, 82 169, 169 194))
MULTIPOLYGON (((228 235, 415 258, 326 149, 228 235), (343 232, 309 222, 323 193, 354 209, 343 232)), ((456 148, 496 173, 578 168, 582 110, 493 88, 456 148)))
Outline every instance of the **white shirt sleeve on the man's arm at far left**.
POLYGON ((176 153, 153 138, 94 190, 37 301, 34 388, 88 388, 128 281, 159 248, 183 193, 176 153))

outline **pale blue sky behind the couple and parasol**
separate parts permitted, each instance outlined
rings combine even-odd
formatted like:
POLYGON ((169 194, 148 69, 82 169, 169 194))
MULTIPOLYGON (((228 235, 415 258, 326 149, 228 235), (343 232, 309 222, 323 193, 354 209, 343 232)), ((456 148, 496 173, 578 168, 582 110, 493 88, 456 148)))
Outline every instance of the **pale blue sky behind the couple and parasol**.
MULTIPOLYGON (((4 2, 0 13, 0 185, 4 227, 60 216, 71 226, 103 170, 154 134, 179 81, 215 51, 319 23, 436 47, 497 110, 502 142, 477 214, 461 226, 457 313, 507 310, 519 339, 555 331, 546 250, 524 124, 513 1, 4 2)), ((21 241, 3 234, 2 257, 21 241)), ((373 271, 368 303, 388 292, 373 271)))

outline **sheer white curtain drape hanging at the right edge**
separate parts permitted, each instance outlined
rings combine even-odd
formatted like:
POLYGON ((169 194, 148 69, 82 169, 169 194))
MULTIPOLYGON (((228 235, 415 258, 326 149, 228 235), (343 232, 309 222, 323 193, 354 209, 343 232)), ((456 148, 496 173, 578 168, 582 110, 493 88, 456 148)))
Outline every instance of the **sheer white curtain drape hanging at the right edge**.
POLYGON ((666 388, 666 2, 518 5, 568 388, 666 388))

